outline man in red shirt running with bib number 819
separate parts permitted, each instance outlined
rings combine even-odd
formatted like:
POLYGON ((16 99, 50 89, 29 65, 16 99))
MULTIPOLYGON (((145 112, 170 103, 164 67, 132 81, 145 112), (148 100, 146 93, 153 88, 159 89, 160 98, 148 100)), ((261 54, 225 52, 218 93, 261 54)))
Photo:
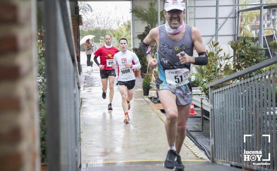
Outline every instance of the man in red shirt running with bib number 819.
POLYGON ((109 78, 109 88, 110 88, 110 103, 108 104, 108 109, 112 110, 112 101, 114 97, 114 82, 115 82, 115 70, 111 67, 111 64, 113 63, 113 58, 115 53, 118 52, 118 50, 111 45, 111 37, 110 35, 106 35, 104 38, 105 45, 99 48, 94 53, 94 62, 98 65, 100 68, 100 76, 101 76, 101 82, 102 82, 102 98, 106 99, 106 93, 108 88, 108 78, 109 78), (97 57, 100 56, 100 63, 97 61, 97 57))

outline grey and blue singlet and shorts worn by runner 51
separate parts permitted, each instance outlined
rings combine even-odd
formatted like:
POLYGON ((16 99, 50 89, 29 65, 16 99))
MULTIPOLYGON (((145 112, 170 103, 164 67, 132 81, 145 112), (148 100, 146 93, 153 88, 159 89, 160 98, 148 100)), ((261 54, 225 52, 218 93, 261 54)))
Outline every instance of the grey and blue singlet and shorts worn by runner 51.
POLYGON ((156 79, 157 91, 170 90, 176 95, 176 104, 183 106, 190 104, 192 101, 191 83, 172 88, 167 84, 165 70, 176 68, 187 68, 190 70, 190 63, 182 65, 176 56, 181 51, 193 55, 193 41, 191 35, 191 26, 185 25, 185 33, 180 41, 173 41, 166 33, 164 25, 159 26, 160 44, 158 49, 158 73, 156 79), (190 85, 189 85, 190 84, 190 85))

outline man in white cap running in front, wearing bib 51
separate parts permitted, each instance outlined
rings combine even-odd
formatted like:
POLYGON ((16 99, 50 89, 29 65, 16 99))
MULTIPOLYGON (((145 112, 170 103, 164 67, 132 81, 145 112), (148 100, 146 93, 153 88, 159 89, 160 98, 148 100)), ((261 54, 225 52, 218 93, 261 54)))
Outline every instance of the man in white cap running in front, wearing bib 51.
POLYGON ((190 64, 206 65, 208 57, 197 28, 185 25, 185 2, 167 0, 164 5, 165 25, 153 28, 143 40, 141 47, 153 69, 158 65, 159 76, 156 79, 157 94, 167 113, 165 128, 169 144, 164 167, 183 170, 179 155, 186 136, 186 124, 192 101, 190 64), (158 46, 158 58, 151 56, 150 46, 158 46), (193 47, 200 57, 194 58, 193 47), (180 54, 182 51, 185 53, 180 54), (177 159, 176 159, 177 157, 177 159), (175 161, 176 159, 176 161, 175 161))

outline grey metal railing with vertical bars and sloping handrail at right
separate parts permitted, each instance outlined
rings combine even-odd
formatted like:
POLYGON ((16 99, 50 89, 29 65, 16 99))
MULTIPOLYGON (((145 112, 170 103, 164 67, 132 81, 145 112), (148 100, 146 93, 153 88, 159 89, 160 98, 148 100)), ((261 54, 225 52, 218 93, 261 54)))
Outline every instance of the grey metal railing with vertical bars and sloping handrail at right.
POLYGON ((270 58, 206 86, 210 90, 212 162, 276 170, 277 69, 213 90, 216 85, 276 62, 277 58, 270 58), (258 165, 265 163, 268 165, 258 165))

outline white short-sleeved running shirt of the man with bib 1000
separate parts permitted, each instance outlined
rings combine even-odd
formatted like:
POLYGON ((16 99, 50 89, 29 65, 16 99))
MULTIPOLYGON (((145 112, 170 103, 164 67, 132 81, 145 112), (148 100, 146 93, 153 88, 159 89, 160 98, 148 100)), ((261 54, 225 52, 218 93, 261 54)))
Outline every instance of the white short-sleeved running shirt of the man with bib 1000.
POLYGON ((140 63, 138 60, 138 56, 127 50, 126 52, 118 52, 114 55, 114 63, 115 67, 118 65, 118 81, 131 81, 135 79, 134 69, 139 69, 140 63), (124 64, 129 63, 132 64, 134 61, 132 68, 125 68, 124 64))

